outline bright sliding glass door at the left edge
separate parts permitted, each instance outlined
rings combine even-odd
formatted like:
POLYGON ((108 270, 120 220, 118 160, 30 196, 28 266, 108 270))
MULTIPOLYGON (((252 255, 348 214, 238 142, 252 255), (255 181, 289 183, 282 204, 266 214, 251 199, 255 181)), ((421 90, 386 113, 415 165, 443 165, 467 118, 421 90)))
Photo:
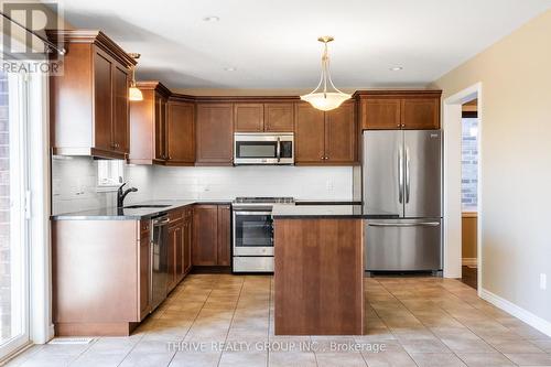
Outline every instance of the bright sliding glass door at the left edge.
POLYGON ((0 359, 29 343, 28 95, 0 69, 0 359))

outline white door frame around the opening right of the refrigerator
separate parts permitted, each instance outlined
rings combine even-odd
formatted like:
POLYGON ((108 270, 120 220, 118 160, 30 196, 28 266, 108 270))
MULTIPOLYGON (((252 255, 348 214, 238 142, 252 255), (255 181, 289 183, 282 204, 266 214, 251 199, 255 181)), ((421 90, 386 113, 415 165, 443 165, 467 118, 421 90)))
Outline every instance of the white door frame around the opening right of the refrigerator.
POLYGON ((472 85, 443 102, 444 130, 444 277, 462 276, 462 205, 461 205, 461 122, 462 105, 478 99, 478 215, 477 265, 478 292, 482 285, 482 83, 472 85))

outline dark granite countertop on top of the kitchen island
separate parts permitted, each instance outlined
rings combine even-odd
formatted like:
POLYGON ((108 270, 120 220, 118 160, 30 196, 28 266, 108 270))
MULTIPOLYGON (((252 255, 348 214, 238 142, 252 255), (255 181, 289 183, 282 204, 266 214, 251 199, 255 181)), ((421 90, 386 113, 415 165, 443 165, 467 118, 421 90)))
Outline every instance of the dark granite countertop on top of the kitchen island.
POLYGON ((395 219, 398 214, 387 213, 361 205, 273 205, 274 219, 307 219, 307 218, 359 218, 359 219, 395 219))

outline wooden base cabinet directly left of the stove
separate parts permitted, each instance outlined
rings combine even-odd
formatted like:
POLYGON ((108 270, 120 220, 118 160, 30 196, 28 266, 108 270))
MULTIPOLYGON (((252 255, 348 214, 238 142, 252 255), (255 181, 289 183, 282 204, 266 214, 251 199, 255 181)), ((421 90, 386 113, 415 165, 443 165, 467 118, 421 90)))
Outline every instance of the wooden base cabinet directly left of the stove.
POLYGON ((230 206, 193 208, 193 266, 230 265, 230 206))

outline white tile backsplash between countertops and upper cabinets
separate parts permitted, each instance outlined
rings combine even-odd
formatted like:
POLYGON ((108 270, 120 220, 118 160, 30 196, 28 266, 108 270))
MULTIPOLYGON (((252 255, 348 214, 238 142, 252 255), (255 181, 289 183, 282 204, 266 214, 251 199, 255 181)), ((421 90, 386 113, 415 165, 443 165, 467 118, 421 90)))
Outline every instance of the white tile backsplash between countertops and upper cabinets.
MULTIPOLYGON (((236 196, 293 196, 352 199, 349 166, 166 168, 126 165, 125 180, 137 193, 126 203, 149 199, 233 199, 236 196)), ((115 192, 98 192, 97 162, 88 156, 52 160, 53 214, 115 206, 115 192)))

